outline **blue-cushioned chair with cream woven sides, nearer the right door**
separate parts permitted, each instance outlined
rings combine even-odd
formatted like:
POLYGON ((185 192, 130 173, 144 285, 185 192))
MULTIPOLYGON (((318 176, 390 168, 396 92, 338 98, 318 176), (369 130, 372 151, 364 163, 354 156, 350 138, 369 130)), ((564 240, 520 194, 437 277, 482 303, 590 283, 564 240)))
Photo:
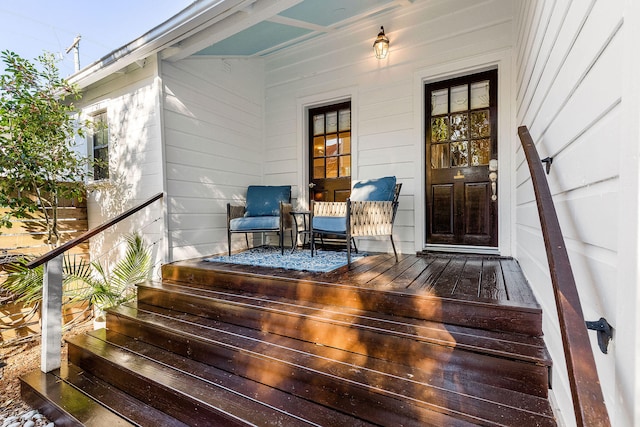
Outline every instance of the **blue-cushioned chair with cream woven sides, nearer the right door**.
POLYGON ((351 264, 351 242, 359 236, 389 236, 393 242, 393 222, 398 210, 398 196, 402 184, 395 176, 357 181, 346 202, 312 202, 311 255, 315 250, 315 237, 337 236, 346 239, 347 263, 351 264))

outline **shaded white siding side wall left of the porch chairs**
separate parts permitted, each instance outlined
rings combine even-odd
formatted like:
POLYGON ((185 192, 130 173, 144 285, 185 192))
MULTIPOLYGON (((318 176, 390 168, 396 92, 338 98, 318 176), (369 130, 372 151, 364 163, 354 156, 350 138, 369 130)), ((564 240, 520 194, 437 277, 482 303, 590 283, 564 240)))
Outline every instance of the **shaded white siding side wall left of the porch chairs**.
POLYGON ((169 259, 224 252, 227 202, 263 182, 263 63, 165 61, 162 79, 169 259))

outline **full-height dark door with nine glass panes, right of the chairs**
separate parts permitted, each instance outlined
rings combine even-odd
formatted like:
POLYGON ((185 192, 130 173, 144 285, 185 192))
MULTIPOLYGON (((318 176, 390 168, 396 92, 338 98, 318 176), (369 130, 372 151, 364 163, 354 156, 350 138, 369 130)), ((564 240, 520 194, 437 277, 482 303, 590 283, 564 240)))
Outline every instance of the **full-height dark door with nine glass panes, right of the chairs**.
POLYGON ((497 79, 494 70, 425 86, 429 244, 498 245, 497 79))

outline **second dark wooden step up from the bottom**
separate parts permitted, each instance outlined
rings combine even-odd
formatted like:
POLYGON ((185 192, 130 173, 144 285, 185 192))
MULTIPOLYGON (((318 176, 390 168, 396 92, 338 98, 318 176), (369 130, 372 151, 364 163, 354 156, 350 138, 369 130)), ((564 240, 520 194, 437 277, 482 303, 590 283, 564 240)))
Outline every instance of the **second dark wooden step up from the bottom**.
MULTIPOLYGON (((366 418, 386 420, 384 425, 472 425, 438 412, 414 413, 401 401, 384 396, 360 402, 359 396, 335 395, 337 402, 355 412, 351 416, 105 330, 71 339, 69 358, 93 375, 108 378, 114 386, 192 426, 379 425, 366 418)), ((272 375, 269 371, 260 373, 265 378, 272 375)), ((298 385, 302 393, 312 394, 305 384, 298 385)))

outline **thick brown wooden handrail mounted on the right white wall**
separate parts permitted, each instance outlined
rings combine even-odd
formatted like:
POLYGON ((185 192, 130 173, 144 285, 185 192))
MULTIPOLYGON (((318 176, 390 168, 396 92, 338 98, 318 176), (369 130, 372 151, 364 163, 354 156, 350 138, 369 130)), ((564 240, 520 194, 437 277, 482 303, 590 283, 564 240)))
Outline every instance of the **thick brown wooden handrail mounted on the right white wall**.
POLYGON ((549 184, 527 127, 520 126, 518 135, 529 164, 529 172, 536 195, 576 422, 580 426, 610 426, 609 414, 604 403, 591 342, 582 314, 578 289, 549 184))

